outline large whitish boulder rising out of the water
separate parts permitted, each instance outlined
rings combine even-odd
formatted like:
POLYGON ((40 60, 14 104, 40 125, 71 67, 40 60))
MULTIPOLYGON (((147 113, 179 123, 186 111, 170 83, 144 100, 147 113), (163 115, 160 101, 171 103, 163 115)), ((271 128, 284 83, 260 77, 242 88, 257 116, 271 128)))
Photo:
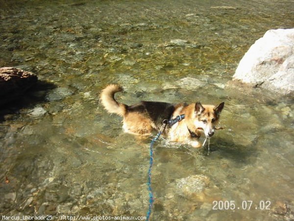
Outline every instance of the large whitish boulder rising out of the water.
POLYGON ((294 93, 294 28, 269 30, 241 59, 233 80, 294 93))

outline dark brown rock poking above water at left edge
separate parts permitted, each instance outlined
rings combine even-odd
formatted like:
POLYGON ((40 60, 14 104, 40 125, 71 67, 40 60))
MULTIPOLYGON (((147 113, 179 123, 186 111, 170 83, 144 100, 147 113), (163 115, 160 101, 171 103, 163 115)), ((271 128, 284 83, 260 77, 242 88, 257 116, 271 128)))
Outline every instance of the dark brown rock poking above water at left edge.
POLYGON ((38 81, 38 77, 28 71, 13 67, 0 68, 0 105, 21 97, 38 81))

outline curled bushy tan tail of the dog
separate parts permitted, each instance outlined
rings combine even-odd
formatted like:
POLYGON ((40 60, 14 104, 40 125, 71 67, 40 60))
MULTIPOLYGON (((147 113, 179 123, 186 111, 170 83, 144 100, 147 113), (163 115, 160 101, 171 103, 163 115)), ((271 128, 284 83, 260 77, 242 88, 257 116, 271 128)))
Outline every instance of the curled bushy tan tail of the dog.
POLYGON ((120 104, 114 99, 114 94, 120 91, 123 91, 123 88, 120 85, 109 84, 102 90, 100 99, 102 105, 108 112, 123 116, 126 113, 127 105, 120 104))

